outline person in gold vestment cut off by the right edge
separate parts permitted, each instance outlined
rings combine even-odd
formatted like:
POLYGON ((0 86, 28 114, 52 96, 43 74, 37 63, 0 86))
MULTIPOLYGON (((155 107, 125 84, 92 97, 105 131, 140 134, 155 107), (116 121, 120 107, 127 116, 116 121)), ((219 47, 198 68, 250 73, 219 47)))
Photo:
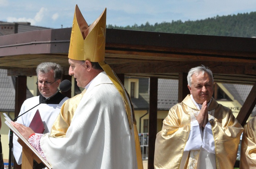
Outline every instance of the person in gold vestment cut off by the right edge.
POLYGON ((241 144, 240 169, 256 168, 256 117, 245 125, 241 144))

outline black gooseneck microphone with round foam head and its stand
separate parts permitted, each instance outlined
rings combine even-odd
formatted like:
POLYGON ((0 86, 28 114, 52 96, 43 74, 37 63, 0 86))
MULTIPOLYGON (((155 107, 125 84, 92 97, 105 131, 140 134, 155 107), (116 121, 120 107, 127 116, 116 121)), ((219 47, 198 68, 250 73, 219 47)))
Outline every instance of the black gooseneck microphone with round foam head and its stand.
MULTIPOLYGON (((71 88, 72 84, 69 80, 63 80, 60 83, 60 86, 58 89, 58 91, 53 94, 52 96, 50 96, 49 98, 45 99, 44 101, 40 102, 39 104, 44 103, 45 101, 49 100, 50 98, 52 98, 53 96, 55 96, 59 91, 63 91, 66 92, 71 88)), ((36 106, 32 107, 31 109, 29 109, 28 111, 22 113, 21 115, 17 116, 16 118, 13 119, 13 121, 17 120, 17 118, 19 118, 20 116, 24 115, 25 113, 28 113, 30 110, 32 110, 33 108, 37 107, 39 104, 37 104, 36 106)), ((12 164, 12 148, 13 148, 13 131, 10 130, 10 138, 9 138, 9 165, 8 168, 11 168, 11 164, 12 164)))

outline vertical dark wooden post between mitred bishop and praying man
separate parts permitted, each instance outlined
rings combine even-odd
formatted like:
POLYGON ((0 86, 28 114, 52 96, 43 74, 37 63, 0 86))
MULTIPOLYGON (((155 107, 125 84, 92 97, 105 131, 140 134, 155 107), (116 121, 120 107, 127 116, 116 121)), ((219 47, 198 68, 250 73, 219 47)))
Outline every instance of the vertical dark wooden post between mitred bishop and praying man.
POLYGON ((150 78, 149 87, 149 154, 148 169, 154 169, 154 152, 157 134, 157 88, 158 78, 150 78))

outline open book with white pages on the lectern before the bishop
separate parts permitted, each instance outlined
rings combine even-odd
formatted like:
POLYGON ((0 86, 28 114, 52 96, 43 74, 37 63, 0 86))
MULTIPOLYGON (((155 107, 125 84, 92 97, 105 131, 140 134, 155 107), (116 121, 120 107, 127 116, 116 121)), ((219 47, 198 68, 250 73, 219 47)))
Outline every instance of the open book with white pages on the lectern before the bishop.
MULTIPOLYGON (((28 142, 28 140, 26 140, 21 134, 20 132, 11 124, 11 119, 6 115, 6 113, 3 113, 3 115, 5 116, 5 124, 16 134, 16 136, 19 137, 19 139, 22 140, 22 142, 24 142, 24 145, 26 145, 32 152, 34 155, 36 155, 41 161, 42 163, 49 169, 51 169, 52 167, 50 166, 49 163, 47 163, 47 161, 45 161, 44 158, 42 158, 42 156, 37 152, 36 149, 34 149, 34 147, 32 147, 32 145, 28 142)), ((23 146, 24 149, 24 146, 23 146)), ((37 162, 38 163, 38 162, 37 162)))

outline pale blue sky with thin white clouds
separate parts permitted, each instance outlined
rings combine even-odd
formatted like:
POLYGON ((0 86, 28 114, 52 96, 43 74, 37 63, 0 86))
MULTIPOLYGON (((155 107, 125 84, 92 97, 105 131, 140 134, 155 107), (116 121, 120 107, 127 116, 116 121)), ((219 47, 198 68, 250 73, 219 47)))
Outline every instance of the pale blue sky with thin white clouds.
POLYGON ((107 8, 106 24, 113 26, 196 21, 256 11, 256 0, 0 0, 0 21, 71 27, 76 4, 89 25, 107 8))

